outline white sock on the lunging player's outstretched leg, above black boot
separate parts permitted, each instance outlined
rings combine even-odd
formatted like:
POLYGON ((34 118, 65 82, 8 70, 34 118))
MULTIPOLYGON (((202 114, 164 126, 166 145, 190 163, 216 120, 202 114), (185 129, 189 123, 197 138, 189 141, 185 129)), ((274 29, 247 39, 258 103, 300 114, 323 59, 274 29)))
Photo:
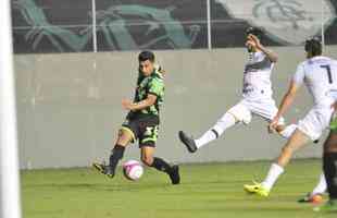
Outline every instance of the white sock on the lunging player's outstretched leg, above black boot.
POLYGON ((230 113, 225 113, 213 128, 207 131, 201 137, 196 140, 196 145, 198 148, 202 147, 203 145, 214 141, 220 135, 222 135, 227 128, 235 125, 235 118, 230 113))

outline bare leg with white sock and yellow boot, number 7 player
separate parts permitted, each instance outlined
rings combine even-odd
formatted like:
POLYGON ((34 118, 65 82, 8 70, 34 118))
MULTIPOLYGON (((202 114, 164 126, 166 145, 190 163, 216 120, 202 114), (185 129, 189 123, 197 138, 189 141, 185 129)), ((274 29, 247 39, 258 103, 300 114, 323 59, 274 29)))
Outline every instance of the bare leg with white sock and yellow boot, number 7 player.
POLYGON ((294 153, 303 147, 309 140, 310 138, 307 136, 307 134, 304 134, 300 130, 296 130, 286 143, 286 145, 283 147, 277 161, 272 164, 264 181, 262 183, 245 185, 245 190, 249 193, 267 196, 279 175, 284 172, 284 168, 288 165, 294 153))

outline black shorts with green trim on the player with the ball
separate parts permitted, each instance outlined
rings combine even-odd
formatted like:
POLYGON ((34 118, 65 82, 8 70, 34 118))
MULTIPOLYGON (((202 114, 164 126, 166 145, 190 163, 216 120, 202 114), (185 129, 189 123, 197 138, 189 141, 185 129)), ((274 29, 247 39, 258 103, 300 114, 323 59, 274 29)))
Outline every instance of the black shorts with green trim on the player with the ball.
POLYGON ((126 119, 121 130, 130 132, 134 137, 133 142, 138 140, 139 147, 155 147, 159 132, 159 119, 157 117, 126 119))

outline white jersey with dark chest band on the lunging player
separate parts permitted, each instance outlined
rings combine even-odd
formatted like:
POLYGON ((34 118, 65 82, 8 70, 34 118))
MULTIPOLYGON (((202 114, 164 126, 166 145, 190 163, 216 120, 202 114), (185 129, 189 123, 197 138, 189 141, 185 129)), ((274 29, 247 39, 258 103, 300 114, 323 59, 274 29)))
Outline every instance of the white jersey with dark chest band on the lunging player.
POLYGON ((272 98, 271 74, 274 63, 262 51, 249 56, 244 72, 244 98, 248 100, 272 98))

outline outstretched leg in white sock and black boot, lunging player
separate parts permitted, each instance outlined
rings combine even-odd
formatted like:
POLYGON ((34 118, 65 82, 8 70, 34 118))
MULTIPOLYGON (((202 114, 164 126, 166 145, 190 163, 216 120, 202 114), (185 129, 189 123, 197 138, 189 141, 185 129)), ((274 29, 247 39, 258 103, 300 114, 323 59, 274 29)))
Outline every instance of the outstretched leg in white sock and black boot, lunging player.
POLYGON ((194 140, 185 132, 179 131, 179 138, 186 145, 190 153, 195 153, 197 149, 209 144, 222 135, 228 128, 235 125, 238 122, 249 123, 251 120, 251 112, 245 106, 244 101, 237 104, 230 108, 225 114, 223 114, 217 122, 209 129, 201 137, 194 140))

